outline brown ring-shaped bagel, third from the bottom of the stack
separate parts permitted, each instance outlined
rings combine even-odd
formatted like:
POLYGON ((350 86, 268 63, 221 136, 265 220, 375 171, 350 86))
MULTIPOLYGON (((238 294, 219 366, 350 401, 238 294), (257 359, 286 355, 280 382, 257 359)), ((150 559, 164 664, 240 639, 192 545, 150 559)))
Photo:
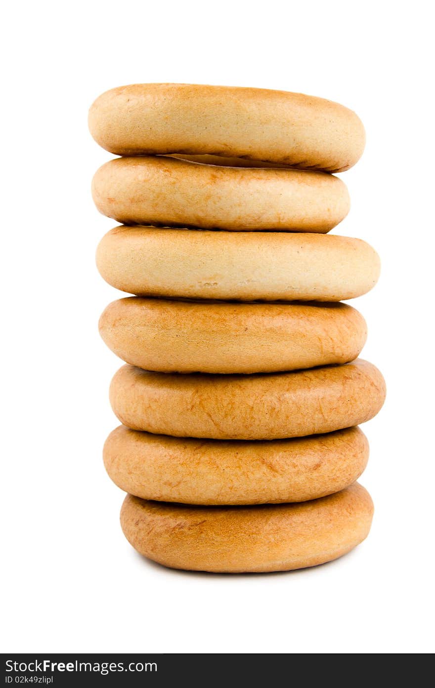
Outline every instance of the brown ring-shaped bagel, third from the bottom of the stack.
POLYGON ((168 375, 125 365, 110 385, 124 425, 175 437, 274 440, 359 425, 381 409, 385 382, 358 359, 272 375, 168 375))

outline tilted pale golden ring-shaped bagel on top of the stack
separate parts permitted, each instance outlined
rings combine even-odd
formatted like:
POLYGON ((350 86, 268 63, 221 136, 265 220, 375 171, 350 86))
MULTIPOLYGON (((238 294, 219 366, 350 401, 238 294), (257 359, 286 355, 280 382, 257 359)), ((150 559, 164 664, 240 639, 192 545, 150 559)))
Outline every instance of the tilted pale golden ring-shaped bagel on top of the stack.
POLYGON ((188 153, 341 172, 365 144, 359 117, 298 93, 195 84, 134 84, 96 99, 89 129, 116 155, 188 153))

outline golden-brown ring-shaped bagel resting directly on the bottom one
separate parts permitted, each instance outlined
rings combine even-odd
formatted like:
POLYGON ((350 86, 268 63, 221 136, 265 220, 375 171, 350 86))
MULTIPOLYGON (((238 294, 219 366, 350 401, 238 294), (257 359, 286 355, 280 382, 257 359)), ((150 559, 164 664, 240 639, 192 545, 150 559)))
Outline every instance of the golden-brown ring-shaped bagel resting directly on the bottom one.
POLYGON ((120 425, 103 450, 107 473, 142 499, 184 504, 305 502, 359 478, 368 441, 359 428, 293 440, 224 442, 151 435, 120 425))

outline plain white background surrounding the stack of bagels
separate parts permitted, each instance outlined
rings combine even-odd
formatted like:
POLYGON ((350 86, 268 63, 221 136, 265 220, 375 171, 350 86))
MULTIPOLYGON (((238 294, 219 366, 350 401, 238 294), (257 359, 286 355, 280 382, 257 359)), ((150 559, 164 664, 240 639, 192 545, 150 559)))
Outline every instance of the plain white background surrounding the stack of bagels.
POLYGON ((423 653, 433 649, 434 146, 429 3, 10 3, 3 26, 3 652, 423 653), (141 559, 101 449, 120 361, 97 333, 118 293, 94 266, 114 222, 89 185, 101 92, 135 82, 306 92, 357 111, 337 233, 381 255, 353 305, 388 400, 363 427, 365 543, 294 573, 176 572, 141 559))

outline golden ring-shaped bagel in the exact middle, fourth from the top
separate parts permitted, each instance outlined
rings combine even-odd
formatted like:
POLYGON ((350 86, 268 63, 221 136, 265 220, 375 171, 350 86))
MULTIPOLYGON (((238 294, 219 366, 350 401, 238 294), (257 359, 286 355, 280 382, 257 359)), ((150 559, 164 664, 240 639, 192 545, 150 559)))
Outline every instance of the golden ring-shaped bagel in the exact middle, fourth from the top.
POLYGON ((129 297, 100 334, 126 363, 158 372, 258 373, 347 363, 367 336, 345 303, 231 303, 129 297))

